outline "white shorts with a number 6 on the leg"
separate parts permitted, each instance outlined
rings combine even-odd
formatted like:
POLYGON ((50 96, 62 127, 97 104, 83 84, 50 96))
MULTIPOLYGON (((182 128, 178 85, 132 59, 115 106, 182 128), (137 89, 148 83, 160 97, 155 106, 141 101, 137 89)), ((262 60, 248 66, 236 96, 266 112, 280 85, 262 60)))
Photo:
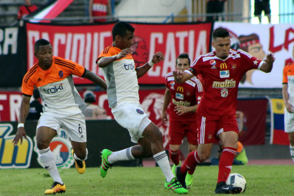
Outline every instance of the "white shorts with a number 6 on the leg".
POLYGON ((50 112, 42 113, 37 128, 47 126, 58 131, 63 128, 69 138, 75 142, 87 142, 85 116, 82 113, 70 117, 56 116, 50 112))

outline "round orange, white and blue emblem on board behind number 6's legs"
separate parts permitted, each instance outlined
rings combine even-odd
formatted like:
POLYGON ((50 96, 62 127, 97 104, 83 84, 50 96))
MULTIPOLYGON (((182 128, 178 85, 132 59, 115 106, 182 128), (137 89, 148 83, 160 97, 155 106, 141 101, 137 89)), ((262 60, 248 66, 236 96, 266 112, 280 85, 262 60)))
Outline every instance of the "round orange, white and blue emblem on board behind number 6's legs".
MULTIPOLYGON (((36 136, 34 137, 34 142, 34 151, 38 153, 36 136)), ((54 154, 57 168, 70 168, 73 165, 74 160, 71 154, 72 145, 64 130, 60 129, 58 131, 58 135, 52 139, 49 147, 54 154)), ((37 161, 42 166, 39 158, 37 161)))

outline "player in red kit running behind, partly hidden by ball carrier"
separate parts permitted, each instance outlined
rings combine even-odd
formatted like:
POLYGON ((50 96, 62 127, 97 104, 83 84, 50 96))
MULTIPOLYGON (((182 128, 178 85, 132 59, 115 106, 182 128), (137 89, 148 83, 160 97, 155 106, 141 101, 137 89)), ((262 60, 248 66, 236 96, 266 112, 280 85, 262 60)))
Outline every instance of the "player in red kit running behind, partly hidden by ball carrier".
MULTIPOLYGON (((190 67, 191 60, 187 53, 182 53, 176 58, 175 68, 185 71, 190 67)), ((173 162, 172 172, 176 166, 181 165, 179 149, 184 137, 187 137, 189 152, 197 149, 197 123, 196 109, 203 94, 202 78, 197 75, 185 83, 174 82, 172 73, 166 75, 166 92, 161 113, 163 123, 168 123, 169 115, 169 154, 173 162), (170 105, 170 108, 168 106, 170 105)), ((188 189, 193 184, 194 170, 188 171, 186 184, 188 189)))

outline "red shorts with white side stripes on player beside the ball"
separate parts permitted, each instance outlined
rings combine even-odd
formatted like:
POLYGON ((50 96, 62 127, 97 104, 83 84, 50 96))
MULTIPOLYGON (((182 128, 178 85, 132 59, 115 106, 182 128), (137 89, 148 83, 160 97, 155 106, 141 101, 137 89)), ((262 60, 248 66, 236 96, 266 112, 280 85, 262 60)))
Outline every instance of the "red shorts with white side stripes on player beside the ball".
POLYGON ((219 119, 211 119, 197 115, 198 143, 210 144, 218 135, 226 131, 234 131, 239 135, 238 124, 235 115, 223 115, 219 119))

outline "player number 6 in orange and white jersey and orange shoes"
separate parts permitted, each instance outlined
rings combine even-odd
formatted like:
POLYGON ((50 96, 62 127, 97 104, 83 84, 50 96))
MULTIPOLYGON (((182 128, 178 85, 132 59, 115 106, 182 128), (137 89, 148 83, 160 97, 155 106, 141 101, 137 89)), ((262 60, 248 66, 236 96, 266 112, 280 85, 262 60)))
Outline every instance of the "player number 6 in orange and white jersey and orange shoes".
POLYGON ((66 188, 55 165, 54 154, 49 147, 57 130, 62 127, 69 135, 75 168, 79 173, 85 171, 85 160, 88 155, 86 123, 81 112, 85 103, 73 85, 73 75, 87 78, 104 89, 106 89, 106 83, 83 66, 53 56, 52 46, 45 39, 36 41, 34 55, 38 62, 23 79, 19 124, 13 143, 16 146, 20 141, 22 145, 23 137, 26 138, 24 123, 29 111, 30 98, 34 87, 37 87, 45 104, 36 131, 39 159, 53 178, 52 187, 46 190, 45 194, 63 193, 66 188))

